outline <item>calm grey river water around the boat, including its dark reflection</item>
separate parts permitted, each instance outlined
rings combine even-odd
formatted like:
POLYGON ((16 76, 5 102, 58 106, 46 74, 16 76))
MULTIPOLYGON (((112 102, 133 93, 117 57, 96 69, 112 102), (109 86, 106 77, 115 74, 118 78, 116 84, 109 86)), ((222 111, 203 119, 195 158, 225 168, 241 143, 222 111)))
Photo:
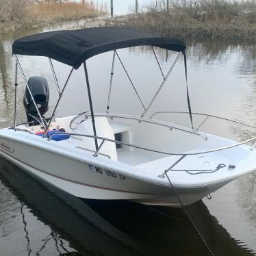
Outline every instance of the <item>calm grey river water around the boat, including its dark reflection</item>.
MULTIPOLYGON (((0 36, 0 127, 12 125, 14 57, 12 42, 21 36, 64 24, 0 36)), ((187 40, 188 83, 194 112, 207 112, 256 125, 256 46, 254 42, 187 40)), ((119 50, 138 91, 149 103, 161 73, 148 47, 119 50)), ((175 53, 157 49, 164 71, 175 53)), ((44 76, 51 89, 50 109, 57 92, 44 57, 21 56, 25 75, 44 76)), ((112 53, 88 60, 94 108, 104 112, 112 53)), ((53 62, 60 85, 70 67, 53 62)), ((18 122, 25 121, 25 84, 18 77, 18 122)), ((185 77, 179 60, 155 101, 151 113, 186 110, 185 77), (167 109, 168 107, 168 109, 167 109)), ((111 111, 142 114, 120 63, 116 62, 111 111)), ((71 78, 56 116, 88 110, 83 70, 71 78)), ((185 124, 188 118, 173 118, 185 124)), ((189 124, 187 124, 189 125, 189 124)), ((207 131, 238 141, 256 136, 253 129, 210 119, 207 131)), ((256 161, 256 159, 255 159, 256 161)), ((57 163, 56 163, 57 164, 57 163)), ((256 254, 256 173, 229 183, 188 210, 215 255, 256 254)), ((209 255, 181 209, 129 202, 81 201, 0 159, 0 255, 209 255)))

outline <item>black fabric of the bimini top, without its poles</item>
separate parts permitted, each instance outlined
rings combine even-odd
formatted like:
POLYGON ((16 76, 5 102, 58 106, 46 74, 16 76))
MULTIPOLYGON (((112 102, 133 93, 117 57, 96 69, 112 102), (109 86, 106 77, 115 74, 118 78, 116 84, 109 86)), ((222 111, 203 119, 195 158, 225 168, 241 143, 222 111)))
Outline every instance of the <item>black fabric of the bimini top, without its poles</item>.
POLYGON ((50 57, 77 69, 99 53, 139 45, 185 51, 182 40, 121 27, 51 31, 15 40, 12 53, 50 57))

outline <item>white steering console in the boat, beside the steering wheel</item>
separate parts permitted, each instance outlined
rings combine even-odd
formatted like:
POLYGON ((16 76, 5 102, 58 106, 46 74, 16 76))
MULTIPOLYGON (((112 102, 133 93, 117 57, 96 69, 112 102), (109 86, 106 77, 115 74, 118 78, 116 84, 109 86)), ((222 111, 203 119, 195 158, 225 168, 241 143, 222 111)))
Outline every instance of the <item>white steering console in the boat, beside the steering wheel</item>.
MULTIPOLYGON (((95 127, 97 131, 97 136, 108 138, 110 140, 114 140, 114 132, 112 127, 110 127, 110 123, 108 123, 107 118, 105 117, 96 117, 95 118, 95 127)), ((94 135, 92 128, 92 120, 88 119, 82 122, 77 129, 75 129, 75 133, 81 133, 85 135, 94 135)), ((71 140, 76 144, 77 148, 85 149, 88 151, 96 151, 94 138, 82 137, 82 136, 71 136, 71 140)), ((100 146, 102 140, 97 140, 98 146, 100 146)), ((99 156, 109 156, 110 159, 117 161, 117 153, 116 153, 116 144, 114 142, 106 141, 99 151, 99 156)))

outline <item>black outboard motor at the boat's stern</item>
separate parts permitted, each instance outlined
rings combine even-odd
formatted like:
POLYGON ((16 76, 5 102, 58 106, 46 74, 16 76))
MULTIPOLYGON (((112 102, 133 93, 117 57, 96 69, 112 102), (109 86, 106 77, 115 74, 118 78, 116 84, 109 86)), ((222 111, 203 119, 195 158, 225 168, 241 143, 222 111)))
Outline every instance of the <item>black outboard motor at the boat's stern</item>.
MULTIPOLYGON (((27 84, 34 100, 36 101, 36 106, 38 107, 40 114, 43 116, 49 109, 49 86, 47 79, 44 77, 30 77, 27 84)), ((29 94, 29 90, 26 88, 23 97, 23 105, 26 110, 27 121, 34 122, 29 123, 29 126, 39 125, 38 120, 40 120, 40 116, 38 116, 34 102, 29 94)))

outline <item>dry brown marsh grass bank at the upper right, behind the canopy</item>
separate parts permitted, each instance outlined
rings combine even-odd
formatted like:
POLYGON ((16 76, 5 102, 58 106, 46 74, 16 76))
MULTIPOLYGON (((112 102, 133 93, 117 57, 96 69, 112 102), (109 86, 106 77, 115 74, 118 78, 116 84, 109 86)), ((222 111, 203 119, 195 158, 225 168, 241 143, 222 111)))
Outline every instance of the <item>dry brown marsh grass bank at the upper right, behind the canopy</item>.
POLYGON ((158 0, 115 25, 172 36, 256 40, 256 0, 158 0))

